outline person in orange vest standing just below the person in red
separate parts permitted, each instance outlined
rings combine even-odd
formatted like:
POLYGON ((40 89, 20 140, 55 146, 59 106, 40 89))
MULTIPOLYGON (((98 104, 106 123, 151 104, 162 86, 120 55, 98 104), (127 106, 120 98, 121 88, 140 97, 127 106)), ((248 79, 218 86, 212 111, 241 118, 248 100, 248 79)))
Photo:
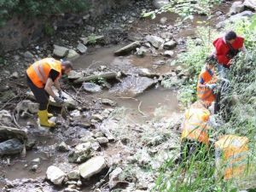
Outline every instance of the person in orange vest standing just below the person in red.
POLYGON ((206 107, 210 107, 212 102, 215 102, 216 96, 214 88, 217 86, 217 76, 214 73, 214 66, 218 61, 213 55, 208 56, 206 66, 203 67, 197 83, 197 96, 206 107))

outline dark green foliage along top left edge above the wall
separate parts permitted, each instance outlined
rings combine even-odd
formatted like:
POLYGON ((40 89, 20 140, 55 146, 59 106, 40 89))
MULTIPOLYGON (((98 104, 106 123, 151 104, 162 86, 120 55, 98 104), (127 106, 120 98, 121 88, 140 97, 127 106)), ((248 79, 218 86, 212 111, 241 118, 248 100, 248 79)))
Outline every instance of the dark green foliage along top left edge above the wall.
POLYGON ((12 15, 30 18, 61 13, 79 13, 87 9, 88 6, 88 0, 0 0, 0 26, 3 26, 12 15))

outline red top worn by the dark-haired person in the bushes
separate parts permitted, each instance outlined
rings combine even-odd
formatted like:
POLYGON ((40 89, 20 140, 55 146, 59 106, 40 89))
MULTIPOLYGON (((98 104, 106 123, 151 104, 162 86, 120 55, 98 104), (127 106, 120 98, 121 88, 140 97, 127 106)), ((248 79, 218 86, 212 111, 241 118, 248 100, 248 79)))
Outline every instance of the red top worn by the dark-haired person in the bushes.
MULTIPOLYGON (((231 44, 234 49, 241 49, 243 47, 244 38, 237 37, 235 42, 231 44)), ((216 56, 218 59, 218 63, 224 65, 224 67, 230 67, 230 58, 228 58, 228 53, 230 51, 230 47, 225 43, 224 38, 217 38, 213 41, 213 45, 216 49, 216 56)))

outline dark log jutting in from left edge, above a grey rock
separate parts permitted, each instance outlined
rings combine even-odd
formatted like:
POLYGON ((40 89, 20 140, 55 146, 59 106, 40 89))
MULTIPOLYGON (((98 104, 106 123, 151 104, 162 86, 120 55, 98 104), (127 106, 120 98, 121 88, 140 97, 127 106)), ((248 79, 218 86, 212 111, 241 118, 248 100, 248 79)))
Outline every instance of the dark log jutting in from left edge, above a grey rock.
POLYGON ((20 141, 25 141, 27 140, 26 131, 9 126, 0 125, 0 140, 8 140, 11 138, 18 138, 20 141))

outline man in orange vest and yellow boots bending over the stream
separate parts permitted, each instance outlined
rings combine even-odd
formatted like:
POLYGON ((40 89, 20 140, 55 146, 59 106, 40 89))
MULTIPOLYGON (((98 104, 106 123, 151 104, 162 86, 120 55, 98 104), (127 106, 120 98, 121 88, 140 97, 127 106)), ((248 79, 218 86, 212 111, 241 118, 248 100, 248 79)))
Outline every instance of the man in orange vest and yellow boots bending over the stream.
POLYGON ((62 74, 68 74, 71 70, 73 70, 73 64, 70 61, 57 61, 53 58, 36 61, 27 68, 27 84, 39 103, 38 118, 40 125, 55 126, 54 122, 48 120, 49 117, 53 116, 53 114, 48 113, 49 96, 52 96, 55 102, 59 104, 64 103, 59 79, 62 74), (55 85, 59 96, 55 95, 52 85, 55 85))

